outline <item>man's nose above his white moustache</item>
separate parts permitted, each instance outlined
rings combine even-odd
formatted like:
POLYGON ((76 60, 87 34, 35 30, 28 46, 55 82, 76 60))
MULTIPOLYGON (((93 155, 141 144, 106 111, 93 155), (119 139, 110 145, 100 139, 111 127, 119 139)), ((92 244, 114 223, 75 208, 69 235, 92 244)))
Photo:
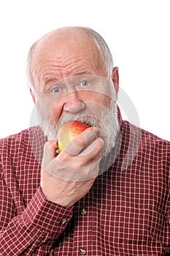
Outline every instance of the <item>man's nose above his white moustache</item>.
POLYGON ((66 97, 66 102, 63 106, 63 110, 70 113, 78 113, 85 109, 85 103, 79 99, 77 92, 72 92, 66 97))

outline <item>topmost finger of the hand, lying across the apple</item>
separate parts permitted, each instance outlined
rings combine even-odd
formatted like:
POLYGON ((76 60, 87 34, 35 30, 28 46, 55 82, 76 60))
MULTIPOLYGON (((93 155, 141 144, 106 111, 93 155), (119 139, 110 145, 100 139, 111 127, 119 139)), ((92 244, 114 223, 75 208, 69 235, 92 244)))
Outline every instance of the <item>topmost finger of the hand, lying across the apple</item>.
POLYGON ((90 127, 77 135, 64 149, 67 154, 77 156, 80 154, 83 148, 90 145, 93 140, 96 140, 98 134, 98 129, 96 127, 90 127))

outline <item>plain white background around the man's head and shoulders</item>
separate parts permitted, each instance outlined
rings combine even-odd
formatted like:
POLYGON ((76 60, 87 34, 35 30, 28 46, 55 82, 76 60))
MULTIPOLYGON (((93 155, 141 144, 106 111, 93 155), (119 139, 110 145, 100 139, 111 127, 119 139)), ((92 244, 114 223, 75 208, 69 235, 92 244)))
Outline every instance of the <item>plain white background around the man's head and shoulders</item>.
POLYGON ((34 103, 26 85, 28 49, 48 31, 75 25, 106 39, 140 127, 170 140, 169 13, 168 0, 1 1, 0 138, 29 127, 34 103))

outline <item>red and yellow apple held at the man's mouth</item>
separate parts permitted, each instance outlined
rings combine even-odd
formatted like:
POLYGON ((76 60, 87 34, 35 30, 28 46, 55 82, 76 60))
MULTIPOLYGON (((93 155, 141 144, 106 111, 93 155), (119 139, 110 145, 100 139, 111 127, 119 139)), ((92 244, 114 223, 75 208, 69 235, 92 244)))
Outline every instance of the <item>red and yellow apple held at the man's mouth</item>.
POLYGON ((88 124, 84 124, 80 121, 68 121, 61 125, 58 129, 58 151, 63 151, 63 148, 65 148, 70 141, 88 128, 88 124))

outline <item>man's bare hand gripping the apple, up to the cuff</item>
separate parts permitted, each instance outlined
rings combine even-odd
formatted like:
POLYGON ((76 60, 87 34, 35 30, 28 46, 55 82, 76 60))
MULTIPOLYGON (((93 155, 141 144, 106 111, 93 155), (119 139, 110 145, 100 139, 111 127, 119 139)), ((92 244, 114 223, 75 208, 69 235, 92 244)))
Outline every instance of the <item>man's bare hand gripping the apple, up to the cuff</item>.
POLYGON ((74 138, 57 157, 57 140, 45 143, 41 187, 47 200, 71 207, 84 197, 98 175, 103 145, 92 127, 74 138))

